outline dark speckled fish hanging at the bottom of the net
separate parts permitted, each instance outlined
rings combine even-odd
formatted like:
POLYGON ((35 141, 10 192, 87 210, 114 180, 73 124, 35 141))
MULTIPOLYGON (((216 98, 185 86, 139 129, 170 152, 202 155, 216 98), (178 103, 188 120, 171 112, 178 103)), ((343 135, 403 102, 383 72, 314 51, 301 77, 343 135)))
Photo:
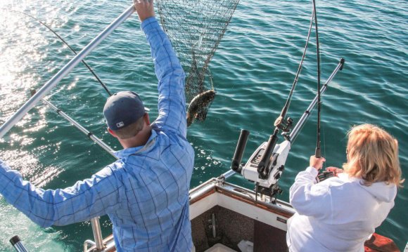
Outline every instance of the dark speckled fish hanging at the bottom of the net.
POLYGON ((205 119, 207 116, 206 108, 215 98, 215 90, 211 89, 199 93, 191 100, 189 109, 187 110, 187 127, 189 127, 194 119, 205 119))

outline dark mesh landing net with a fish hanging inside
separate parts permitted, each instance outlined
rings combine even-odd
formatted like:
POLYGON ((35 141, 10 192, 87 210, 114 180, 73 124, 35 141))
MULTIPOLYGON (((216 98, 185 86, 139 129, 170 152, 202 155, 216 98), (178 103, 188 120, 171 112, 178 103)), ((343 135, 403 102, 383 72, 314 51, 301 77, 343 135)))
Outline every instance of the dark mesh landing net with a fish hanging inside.
POLYGON ((156 0, 160 22, 187 73, 187 125, 204 121, 215 98, 209 69, 239 0, 156 0))

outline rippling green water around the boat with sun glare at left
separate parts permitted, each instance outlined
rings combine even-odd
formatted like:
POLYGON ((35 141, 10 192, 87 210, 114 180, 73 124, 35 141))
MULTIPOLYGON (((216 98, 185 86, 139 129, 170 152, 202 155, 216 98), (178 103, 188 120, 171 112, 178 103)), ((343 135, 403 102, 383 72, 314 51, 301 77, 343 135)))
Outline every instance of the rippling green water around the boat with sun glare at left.
MULTIPOLYGON (((130 4, 2 0, 0 123, 29 99, 30 88, 40 88, 72 58, 72 52, 48 29, 16 11, 39 18, 79 51, 130 4)), ((345 161, 345 133, 350 126, 378 124, 399 140, 402 173, 407 178, 407 1, 317 1, 317 8, 322 80, 329 77, 341 57, 346 60, 343 72, 323 98, 322 152, 326 165, 341 166, 345 161)), ((217 96, 206 121, 189 128, 188 138, 196 150, 191 187, 228 171, 241 128, 250 131, 244 159, 269 138, 298 69, 311 13, 311 1, 248 0, 238 4, 210 62, 217 96)), ((316 92, 314 49, 312 39, 288 112, 295 121, 316 92)), ((153 62, 136 15, 86 60, 111 91, 137 91, 151 108, 151 118, 157 116, 153 62)), ((89 70, 79 65, 47 99, 119 150, 120 145, 106 133, 101 113, 107 97, 89 70)), ((314 113, 289 154, 280 180, 280 199, 288 200, 288 188, 307 166, 315 142, 314 113)), ((44 188, 68 187, 114 161, 42 104, 0 140, 0 158, 44 188)), ((239 175, 231 181, 253 188, 239 175)), ((395 207, 377 229, 401 249, 408 241, 407 200, 408 190, 402 188, 395 207)), ((103 234, 110 234, 108 219, 101 220, 103 234)), ((93 239, 89 222, 42 229, 0 199, 0 251, 13 251, 8 239, 15 234, 30 251, 82 251, 83 241, 93 239)))

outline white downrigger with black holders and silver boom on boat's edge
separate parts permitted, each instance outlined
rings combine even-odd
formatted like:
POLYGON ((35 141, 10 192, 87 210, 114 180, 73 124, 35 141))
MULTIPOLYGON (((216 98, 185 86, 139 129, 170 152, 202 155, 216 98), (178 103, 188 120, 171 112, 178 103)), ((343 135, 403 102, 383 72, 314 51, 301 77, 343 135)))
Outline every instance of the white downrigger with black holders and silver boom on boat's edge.
MULTIPOLYGON (((328 85, 336 74, 343 69, 344 63, 345 60, 341 58, 337 67, 331 73, 329 79, 327 79, 326 83, 321 87, 320 95, 326 91, 328 85)), ((282 133, 283 138, 285 138, 283 142, 280 144, 276 143, 279 139, 279 128, 275 125, 276 128, 274 130, 274 134, 269 137, 268 142, 263 142, 259 147, 257 147, 257 150, 251 154, 246 164, 242 164, 241 160, 243 153, 245 152, 246 143, 248 142, 250 132, 244 129, 241 130, 241 134, 236 145, 236 150, 234 152, 234 158, 232 159, 231 170, 235 171, 236 173, 241 173, 243 178, 254 182, 256 195, 259 193, 261 196, 268 196, 270 201, 275 203, 276 195, 281 194, 282 190, 278 185, 278 181, 285 169, 286 159, 289 151, 291 150, 291 145, 298 136, 300 129, 305 125, 307 119, 310 117, 312 110, 317 105, 317 96, 318 95, 316 95, 312 102, 310 102, 309 107, 307 107, 307 110, 305 110, 305 112, 302 114, 302 117, 300 117, 298 123, 295 124, 292 131, 289 131, 288 128, 292 126, 293 120, 290 119, 290 117, 286 119, 285 124, 282 126, 285 127, 285 131, 282 133), (263 168, 260 169, 262 161, 264 161, 262 164, 263 168)), ((279 121, 279 124, 281 124, 282 121, 283 117, 279 121)), ((227 172, 220 176, 220 178, 225 180, 232 174, 234 173, 227 172)))

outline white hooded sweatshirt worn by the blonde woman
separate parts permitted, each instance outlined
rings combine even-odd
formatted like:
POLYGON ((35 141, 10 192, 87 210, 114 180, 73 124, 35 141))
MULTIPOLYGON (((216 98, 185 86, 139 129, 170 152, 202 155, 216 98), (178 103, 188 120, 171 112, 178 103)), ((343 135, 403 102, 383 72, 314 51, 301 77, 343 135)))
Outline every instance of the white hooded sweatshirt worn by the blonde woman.
POLYGON ((289 251, 364 251, 364 241, 394 206, 397 187, 348 178, 346 173, 316 183, 317 170, 307 167, 291 187, 296 212, 288 220, 289 251))

